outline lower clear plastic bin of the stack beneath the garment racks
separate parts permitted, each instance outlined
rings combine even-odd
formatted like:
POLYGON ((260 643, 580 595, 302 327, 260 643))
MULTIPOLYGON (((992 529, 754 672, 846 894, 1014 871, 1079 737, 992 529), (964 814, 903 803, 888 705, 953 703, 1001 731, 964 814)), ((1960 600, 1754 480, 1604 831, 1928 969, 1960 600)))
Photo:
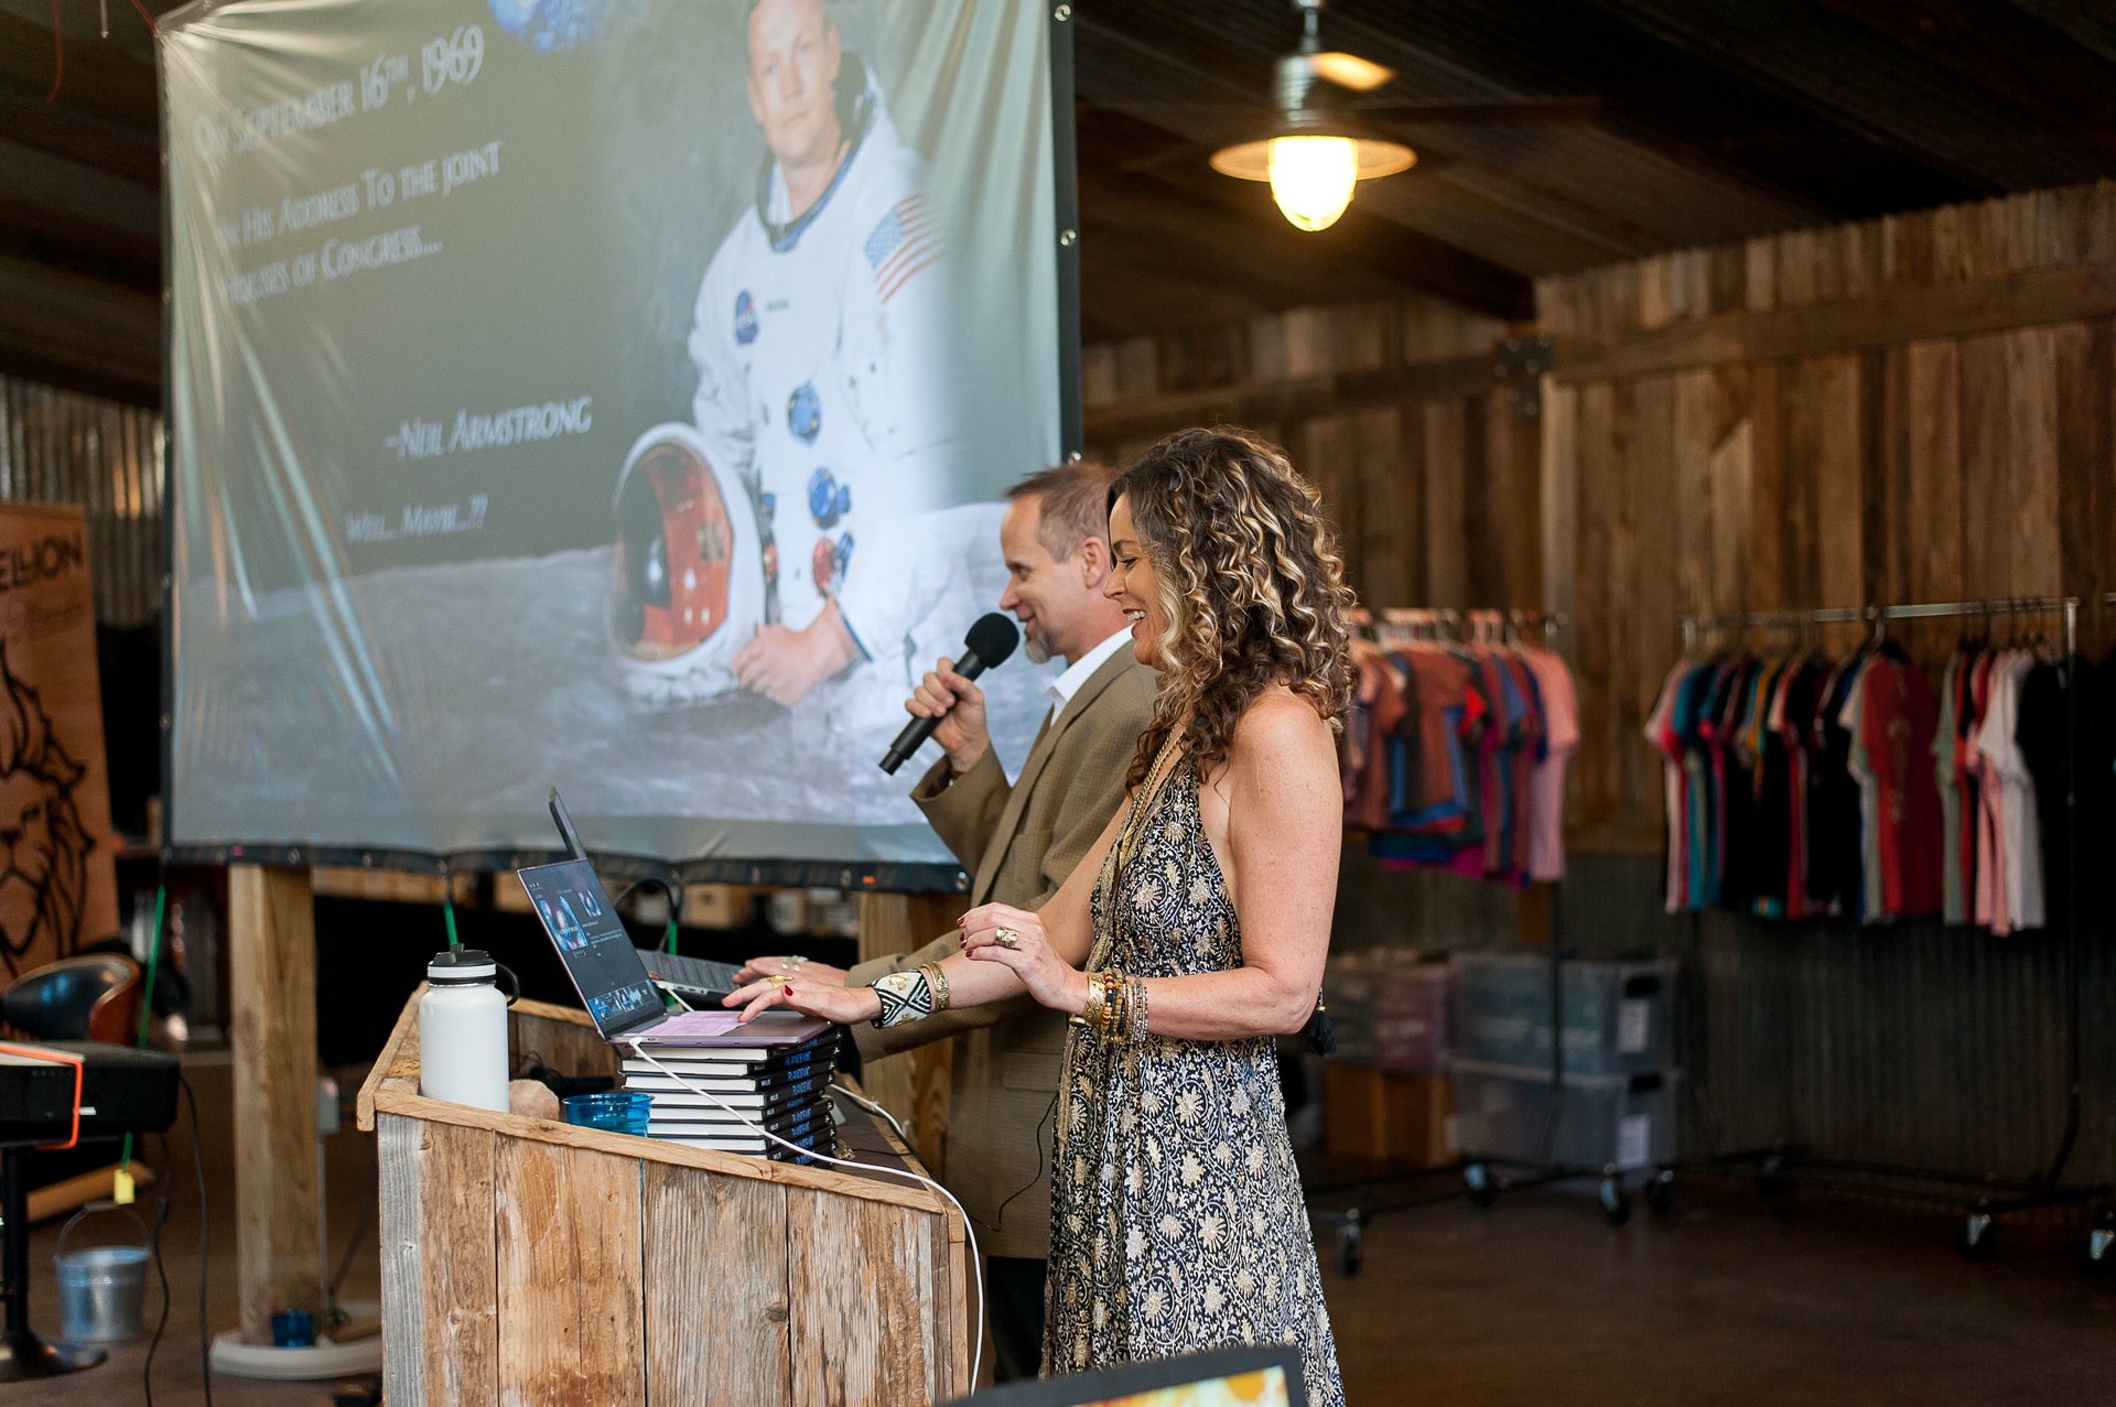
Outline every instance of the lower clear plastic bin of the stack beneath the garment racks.
MULTIPOLYGON (((1456 1143, 1464 1155, 1534 1162, 1551 1111, 1549 1071, 1456 1058, 1456 1143)), ((1676 1147, 1680 1071, 1566 1075, 1549 1159, 1572 1168, 1636 1172, 1676 1147)))

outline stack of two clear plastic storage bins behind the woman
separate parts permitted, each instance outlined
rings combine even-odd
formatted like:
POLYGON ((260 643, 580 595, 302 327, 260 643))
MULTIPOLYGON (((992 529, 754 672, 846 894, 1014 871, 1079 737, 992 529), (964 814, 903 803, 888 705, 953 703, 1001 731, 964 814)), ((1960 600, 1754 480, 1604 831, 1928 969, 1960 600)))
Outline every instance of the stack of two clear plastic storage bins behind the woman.
MULTIPOLYGON (((1551 965, 1532 954, 1458 952, 1454 1102, 1464 1155, 1538 1162, 1551 1111, 1551 965)), ((1564 1107, 1549 1162, 1644 1172, 1676 1145, 1676 965, 1568 961, 1559 967, 1564 1107)))

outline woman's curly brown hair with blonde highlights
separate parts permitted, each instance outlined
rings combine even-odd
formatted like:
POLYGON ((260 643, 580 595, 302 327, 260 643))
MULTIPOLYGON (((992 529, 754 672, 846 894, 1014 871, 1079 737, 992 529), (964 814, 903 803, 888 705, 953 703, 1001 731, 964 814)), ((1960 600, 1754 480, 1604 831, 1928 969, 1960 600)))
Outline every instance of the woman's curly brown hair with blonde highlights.
POLYGON ((1352 702, 1352 592, 1322 499, 1284 451, 1244 430, 1179 430, 1111 485, 1111 506, 1119 497, 1168 618, 1162 690, 1128 785, 1145 781, 1183 719, 1198 766, 1225 762, 1242 713, 1274 683, 1339 730, 1352 702))

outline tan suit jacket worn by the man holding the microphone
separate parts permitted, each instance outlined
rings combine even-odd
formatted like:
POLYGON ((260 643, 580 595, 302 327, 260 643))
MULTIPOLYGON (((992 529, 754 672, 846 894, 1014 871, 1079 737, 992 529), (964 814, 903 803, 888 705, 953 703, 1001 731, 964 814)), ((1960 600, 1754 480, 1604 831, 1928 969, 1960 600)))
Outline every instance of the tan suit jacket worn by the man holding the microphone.
MULTIPOLYGON (((918 781, 912 800, 973 876, 971 906, 1041 908, 1058 893, 1124 802, 1124 774, 1153 713, 1153 671, 1119 647, 1037 734, 1011 787, 990 749, 952 783, 946 757, 918 781)), ((918 952, 861 963, 849 982, 872 986, 882 973, 956 952, 956 935, 944 933, 918 952)), ((1052 1098, 1064 1030, 1062 1016, 1028 997, 889 1030, 857 1028, 870 1058, 963 1037, 954 1047, 944 1181, 975 1221, 986 1255, 1043 1259, 1050 1250, 1052 1098)))

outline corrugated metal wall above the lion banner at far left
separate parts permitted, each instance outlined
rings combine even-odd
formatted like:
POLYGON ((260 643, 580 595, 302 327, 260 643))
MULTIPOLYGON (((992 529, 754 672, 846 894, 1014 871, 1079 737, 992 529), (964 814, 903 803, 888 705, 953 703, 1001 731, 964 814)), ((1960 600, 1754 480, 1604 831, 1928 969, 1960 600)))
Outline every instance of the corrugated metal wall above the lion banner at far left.
POLYGON ((161 417, 0 377, 0 501, 80 504, 95 620, 161 618, 161 417))

